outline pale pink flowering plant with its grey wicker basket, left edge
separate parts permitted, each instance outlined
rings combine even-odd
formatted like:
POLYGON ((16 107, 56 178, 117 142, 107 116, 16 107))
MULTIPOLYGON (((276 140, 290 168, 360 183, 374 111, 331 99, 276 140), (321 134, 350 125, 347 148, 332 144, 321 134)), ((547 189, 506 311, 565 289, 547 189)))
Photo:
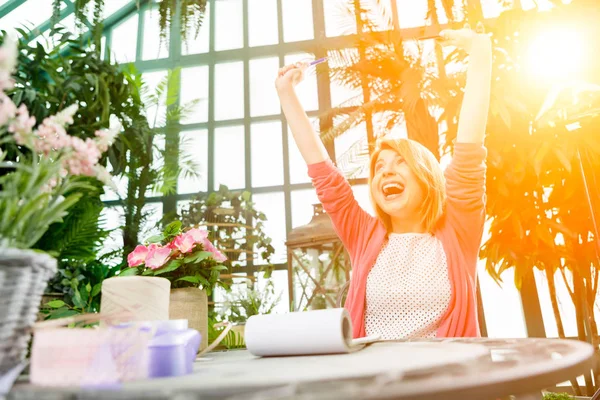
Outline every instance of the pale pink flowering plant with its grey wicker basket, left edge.
POLYGON ((0 48, 0 374, 19 365, 29 341, 42 293, 56 272, 56 260, 35 243, 48 227, 89 190, 90 179, 110 182, 98 164, 120 127, 98 130, 85 141, 70 136, 77 105, 45 118, 37 127, 23 104, 17 108, 5 90, 17 45, 8 37, 0 48), (12 160, 12 161, 7 161, 12 160))

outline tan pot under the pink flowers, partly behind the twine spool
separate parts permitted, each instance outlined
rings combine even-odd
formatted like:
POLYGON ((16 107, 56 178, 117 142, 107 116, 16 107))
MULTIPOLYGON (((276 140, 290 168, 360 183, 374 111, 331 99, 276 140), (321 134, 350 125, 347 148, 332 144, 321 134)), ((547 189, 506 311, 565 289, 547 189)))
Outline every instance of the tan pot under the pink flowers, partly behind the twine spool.
POLYGON ((200 332, 200 350, 208 346, 208 296, 198 288, 171 289, 169 319, 187 319, 188 326, 200 332))

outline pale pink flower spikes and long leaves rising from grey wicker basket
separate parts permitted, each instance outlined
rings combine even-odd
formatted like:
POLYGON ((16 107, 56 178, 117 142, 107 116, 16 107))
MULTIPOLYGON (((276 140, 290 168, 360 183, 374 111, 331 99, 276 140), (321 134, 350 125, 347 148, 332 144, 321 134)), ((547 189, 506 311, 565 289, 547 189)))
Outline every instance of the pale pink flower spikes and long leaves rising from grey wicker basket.
POLYGON ((17 107, 5 93, 14 85, 17 55, 17 43, 5 36, 0 47, 0 248, 33 246, 67 215, 82 189, 92 188, 89 177, 112 185, 99 161, 121 130, 115 124, 98 130, 94 139, 70 136, 66 129, 76 104, 37 124, 25 105, 17 107), (16 157, 7 157, 7 148, 16 157))

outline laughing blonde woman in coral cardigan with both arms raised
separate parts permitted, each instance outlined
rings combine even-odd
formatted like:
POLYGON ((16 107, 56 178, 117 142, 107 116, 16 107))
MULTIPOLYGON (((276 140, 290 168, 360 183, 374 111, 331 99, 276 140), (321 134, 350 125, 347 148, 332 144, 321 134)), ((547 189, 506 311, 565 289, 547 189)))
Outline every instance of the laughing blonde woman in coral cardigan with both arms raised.
POLYGON ((482 27, 478 31, 440 32, 442 45, 470 53, 450 165, 443 173, 433 153, 409 139, 380 142, 369 174, 377 217, 354 198, 296 95, 309 63, 279 71, 281 108, 319 200, 350 254, 353 274, 345 307, 355 337, 479 336, 475 284, 485 217, 482 142, 492 56, 490 38, 482 27))

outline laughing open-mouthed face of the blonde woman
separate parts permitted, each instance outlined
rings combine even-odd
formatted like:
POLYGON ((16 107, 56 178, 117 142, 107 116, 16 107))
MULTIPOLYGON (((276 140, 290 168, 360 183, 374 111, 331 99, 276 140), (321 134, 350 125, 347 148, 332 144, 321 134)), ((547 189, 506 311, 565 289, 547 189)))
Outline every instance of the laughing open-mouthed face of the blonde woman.
POLYGON ((375 204, 392 218, 414 219, 425 200, 423 188, 404 159, 395 151, 381 150, 371 179, 375 204))

